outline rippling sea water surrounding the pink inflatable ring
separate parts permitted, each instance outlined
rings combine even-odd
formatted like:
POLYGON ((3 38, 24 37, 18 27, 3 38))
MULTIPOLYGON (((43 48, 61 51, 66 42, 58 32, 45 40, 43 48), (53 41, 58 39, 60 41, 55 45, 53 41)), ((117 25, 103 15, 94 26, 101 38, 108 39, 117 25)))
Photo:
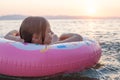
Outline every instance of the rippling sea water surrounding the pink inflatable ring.
MULTIPOLYGON (((42 78, 0 75, 0 80, 120 80, 120 19, 48 19, 54 33, 78 33, 95 39, 102 48, 98 68, 42 78)), ((19 30, 22 20, 0 20, 0 36, 19 30)))

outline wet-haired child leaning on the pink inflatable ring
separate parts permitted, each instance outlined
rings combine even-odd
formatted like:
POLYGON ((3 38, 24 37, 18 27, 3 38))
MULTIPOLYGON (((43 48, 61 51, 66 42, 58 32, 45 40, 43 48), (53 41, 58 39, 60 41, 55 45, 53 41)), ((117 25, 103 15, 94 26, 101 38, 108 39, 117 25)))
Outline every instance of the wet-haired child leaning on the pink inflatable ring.
POLYGON ((21 24, 19 32, 9 32, 6 39, 36 44, 56 44, 64 42, 82 41, 83 38, 74 33, 55 35, 49 22, 43 17, 27 17, 21 24))

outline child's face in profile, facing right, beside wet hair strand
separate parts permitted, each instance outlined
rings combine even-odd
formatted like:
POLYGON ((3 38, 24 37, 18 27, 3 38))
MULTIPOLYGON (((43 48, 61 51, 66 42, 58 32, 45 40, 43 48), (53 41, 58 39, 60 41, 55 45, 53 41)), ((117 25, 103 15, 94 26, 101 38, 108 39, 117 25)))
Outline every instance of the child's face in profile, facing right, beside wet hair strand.
POLYGON ((53 32, 51 31, 50 26, 46 28, 44 44, 50 44, 52 41, 53 32))

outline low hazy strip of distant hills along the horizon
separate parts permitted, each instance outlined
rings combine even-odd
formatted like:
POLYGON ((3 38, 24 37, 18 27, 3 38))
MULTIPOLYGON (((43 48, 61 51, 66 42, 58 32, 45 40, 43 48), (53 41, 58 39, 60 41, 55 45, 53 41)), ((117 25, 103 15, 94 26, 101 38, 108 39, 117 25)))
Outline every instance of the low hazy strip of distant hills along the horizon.
MULTIPOLYGON (((26 17, 28 17, 28 15, 10 14, 0 16, 0 20, 21 20, 25 19, 26 17)), ((96 16, 43 15, 43 17, 47 19, 120 19, 120 17, 116 16, 96 17, 96 16)))

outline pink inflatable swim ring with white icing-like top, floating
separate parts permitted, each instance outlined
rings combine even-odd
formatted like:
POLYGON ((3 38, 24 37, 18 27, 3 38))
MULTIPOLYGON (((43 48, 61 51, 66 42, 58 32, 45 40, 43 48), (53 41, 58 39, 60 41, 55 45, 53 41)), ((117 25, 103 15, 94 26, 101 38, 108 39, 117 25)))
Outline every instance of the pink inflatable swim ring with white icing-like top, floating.
POLYGON ((0 38, 0 74, 19 77, 48 76, 82 71, 101 56, 93 40, 39 45, 0 38))

